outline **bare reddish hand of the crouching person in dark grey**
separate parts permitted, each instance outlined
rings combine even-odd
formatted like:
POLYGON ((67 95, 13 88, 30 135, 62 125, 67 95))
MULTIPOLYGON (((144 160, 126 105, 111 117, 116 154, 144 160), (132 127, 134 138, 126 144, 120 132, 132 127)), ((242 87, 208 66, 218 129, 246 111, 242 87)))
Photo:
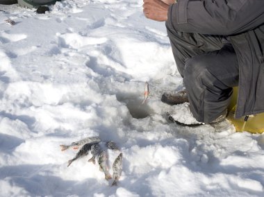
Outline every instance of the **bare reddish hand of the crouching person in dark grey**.
POLYGON ((143 2, 143 12, 145 17, 158 22, 167 21, 168 4, 161 0, 143 0, 143 2))

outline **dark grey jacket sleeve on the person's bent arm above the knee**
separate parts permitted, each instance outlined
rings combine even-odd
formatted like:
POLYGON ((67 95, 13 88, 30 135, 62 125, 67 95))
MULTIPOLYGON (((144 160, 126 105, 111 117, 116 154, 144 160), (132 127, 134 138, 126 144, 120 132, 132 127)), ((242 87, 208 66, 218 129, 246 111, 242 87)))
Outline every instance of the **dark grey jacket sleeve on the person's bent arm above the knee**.
POLYGON ((167 23, 188 33, 243 33, 264 23, 264 0, 178 0, 167 23))

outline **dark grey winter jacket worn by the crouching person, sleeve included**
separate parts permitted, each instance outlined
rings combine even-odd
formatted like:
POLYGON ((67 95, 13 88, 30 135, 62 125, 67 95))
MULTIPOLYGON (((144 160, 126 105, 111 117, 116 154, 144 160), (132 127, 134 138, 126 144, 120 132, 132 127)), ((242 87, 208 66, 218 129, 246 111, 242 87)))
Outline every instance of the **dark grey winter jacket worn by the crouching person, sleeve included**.
POLYGON ((236 117, 264 112, 264 0, 178 0, 167 23, 176 31, 229 35, 239 63, 236 117))

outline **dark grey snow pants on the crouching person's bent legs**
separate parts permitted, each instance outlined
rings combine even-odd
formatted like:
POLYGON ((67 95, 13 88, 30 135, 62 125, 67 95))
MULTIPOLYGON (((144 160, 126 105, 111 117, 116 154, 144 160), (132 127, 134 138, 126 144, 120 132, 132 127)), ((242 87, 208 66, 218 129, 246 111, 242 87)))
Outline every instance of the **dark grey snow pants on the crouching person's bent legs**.
POLYGON ((226 112, 238 86, 238 60, 229 38, 222 35, 181 33, 166 24, 172 53, 183 77, 190 110, 204 123, 226 112))

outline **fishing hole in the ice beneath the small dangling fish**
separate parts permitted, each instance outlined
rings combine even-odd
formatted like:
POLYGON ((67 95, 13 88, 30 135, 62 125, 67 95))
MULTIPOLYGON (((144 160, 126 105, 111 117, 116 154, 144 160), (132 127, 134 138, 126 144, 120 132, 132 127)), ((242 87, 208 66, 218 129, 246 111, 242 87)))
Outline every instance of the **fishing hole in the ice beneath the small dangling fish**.
POLYGON ((142 104, 137 94, 116 94, 117 101, 126 103, 129 113, 135 119, 144 119, 151 114, 151 108, 145 103, 142 104))

